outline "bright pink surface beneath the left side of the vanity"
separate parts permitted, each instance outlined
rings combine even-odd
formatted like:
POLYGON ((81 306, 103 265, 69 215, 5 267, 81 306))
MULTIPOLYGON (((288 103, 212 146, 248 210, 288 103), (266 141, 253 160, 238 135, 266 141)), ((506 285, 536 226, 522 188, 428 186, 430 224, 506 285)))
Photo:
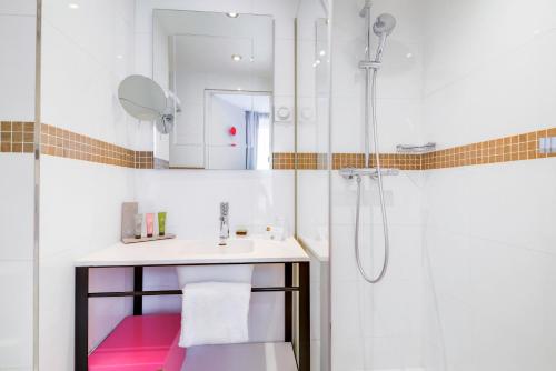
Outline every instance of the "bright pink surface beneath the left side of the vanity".
POLYGON ((89 355, 89 371, 180 371, 181 314, 131 315, 89 355))

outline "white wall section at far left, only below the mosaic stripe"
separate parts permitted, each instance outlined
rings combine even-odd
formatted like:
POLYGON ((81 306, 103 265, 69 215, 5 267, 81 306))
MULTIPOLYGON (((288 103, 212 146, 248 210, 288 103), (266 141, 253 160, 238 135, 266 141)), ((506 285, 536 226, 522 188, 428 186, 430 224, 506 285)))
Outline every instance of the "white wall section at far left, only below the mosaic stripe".
POLYGON ((0 370, 31 370, 33 156, 0 153, 0 370))

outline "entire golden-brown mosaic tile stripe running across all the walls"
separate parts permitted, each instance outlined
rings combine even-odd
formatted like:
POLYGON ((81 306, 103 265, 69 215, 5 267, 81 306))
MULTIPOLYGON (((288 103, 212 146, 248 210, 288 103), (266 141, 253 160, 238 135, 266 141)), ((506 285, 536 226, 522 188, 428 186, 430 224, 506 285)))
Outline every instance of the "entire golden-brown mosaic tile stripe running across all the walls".
MULTIPOLYGON (((538 150, 540 138, 556 137, 556 128, 532 131, 518 136, 497 138, 466 146, 448 148, 426 154, 381 153, 385 168, 401 170, 431 170, 475 164, 534 160, 556 157, 538 150)), ((0 121, 0 152, 32 153, 34 148, 34 123, 22 121, 0 121)), ((87 136, 49 124, 41 124, 41 153, 76 160, 98 162, 133 169, 152 169, 152 151, 133 151, 87 136)), ((326 153, 272 153, 275 170, 327 169, 326 153)), ((157 162, 158 163, 158 162, 157 162)), ((375 167, 374 156, 370 167, 375 167)), ((363 153, 332 153, 332 169, 363 168, 363 153)))

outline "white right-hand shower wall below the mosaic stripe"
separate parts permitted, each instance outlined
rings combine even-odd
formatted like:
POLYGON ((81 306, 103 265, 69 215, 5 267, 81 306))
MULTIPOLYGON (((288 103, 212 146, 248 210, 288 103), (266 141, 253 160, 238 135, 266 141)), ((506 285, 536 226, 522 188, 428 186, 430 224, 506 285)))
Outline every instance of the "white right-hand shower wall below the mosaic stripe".
POLYGON ((553 159, 427 174, 431 370, 550 369, 553 159), (486 351, 488 350, 488 351, 486 351), (441 368, 443 359, 445 367, 441 368), (435 365, 435 363, 440 363, 435 365))

